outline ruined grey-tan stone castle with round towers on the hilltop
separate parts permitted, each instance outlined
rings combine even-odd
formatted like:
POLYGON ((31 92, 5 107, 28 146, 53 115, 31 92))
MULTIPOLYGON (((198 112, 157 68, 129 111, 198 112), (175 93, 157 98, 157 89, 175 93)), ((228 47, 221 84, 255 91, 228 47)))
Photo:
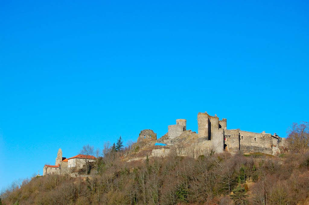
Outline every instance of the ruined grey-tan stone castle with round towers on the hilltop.
MULTIPOLYGON (((176 125, 168 125, 168 133, 166 135, 158 140, 155 137, 151 141, 163 143, 166 146, 174 146, 177 139, 186 141, 185 138, 191 136, 191 138, 193 137, 197 140, 202 149, 212 148, 217 153, 228 151, 232 154, 241 152, 274 155, 285 149, 285 138, 279 137, 276 133, 272 135, 265 133, 265 131, 254 133, 240 129, 227 129, 227 120, 225 118, 219 120, 217 115, 211 116, 207 112, 197 114, 198 133, 187 130, 186 123, 185 119, 177 119, 176 125)), ((147 130, 147 132, 150 131, 152 135, 155 134, 152 130, 147 130)), ((145 130, 142 130, 142 132, 145 132, 145 130)), ((140 134, 138 142, 141 140, 143 138, 140 134)), ((152 153, 155 153, 155 156, 160 156, 158 154, 160 150, 155 149, 152 153)))

